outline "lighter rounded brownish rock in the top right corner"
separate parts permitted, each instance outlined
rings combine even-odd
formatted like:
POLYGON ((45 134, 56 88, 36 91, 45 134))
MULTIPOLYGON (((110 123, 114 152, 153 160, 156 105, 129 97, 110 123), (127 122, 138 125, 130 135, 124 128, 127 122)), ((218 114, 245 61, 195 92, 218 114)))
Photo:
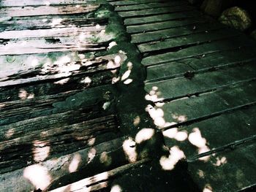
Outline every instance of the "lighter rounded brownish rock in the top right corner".
POLYGON ((231 7, 222 12, 219 21, 227 26, 245 31, 252 26, 252 19, 246 10, 240 7, 231 7))

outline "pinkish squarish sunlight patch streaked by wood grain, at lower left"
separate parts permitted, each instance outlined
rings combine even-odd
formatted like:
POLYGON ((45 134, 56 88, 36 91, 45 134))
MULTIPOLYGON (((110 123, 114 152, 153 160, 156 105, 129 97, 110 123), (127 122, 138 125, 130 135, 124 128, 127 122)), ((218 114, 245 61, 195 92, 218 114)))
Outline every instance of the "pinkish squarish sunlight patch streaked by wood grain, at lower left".
POLYGON ((48 142, 36 140, 33 142, 33 145, 34 161, 41 162, 48 158, 48 155, 50 155, 50 146, 48 146, 48 142))

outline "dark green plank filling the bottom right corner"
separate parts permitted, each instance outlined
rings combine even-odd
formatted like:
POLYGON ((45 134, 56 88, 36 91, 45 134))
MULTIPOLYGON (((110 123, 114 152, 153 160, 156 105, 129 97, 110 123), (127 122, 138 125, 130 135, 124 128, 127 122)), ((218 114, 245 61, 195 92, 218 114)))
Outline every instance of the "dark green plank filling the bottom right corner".
POLYGON ((255 185, 256 180, 255 150, 253 142, 221 153, 206 163, 198 161, 189 164, 189 172, 202 190, 209 188, 211 191, 239 191, 249 188, 255 185))

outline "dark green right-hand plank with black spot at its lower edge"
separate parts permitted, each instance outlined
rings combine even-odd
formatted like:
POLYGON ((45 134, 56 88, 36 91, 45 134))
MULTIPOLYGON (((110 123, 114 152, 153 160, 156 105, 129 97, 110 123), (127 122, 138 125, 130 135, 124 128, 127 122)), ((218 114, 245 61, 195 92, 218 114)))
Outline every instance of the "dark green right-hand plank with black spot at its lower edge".
POLYGON ((180 61, 173 61, 167 64, 160 64, 147 67, 146 82, 155 82, 174 77, 184 76, 188 71, 217 69, 223 66, 231 66, 254 61, 256 58, 255 49, 243 47, 242 49, 226 50, 212 53, 200 58, 187 58, 180 61), (159 71, 161 73, 159 73, 159 71))

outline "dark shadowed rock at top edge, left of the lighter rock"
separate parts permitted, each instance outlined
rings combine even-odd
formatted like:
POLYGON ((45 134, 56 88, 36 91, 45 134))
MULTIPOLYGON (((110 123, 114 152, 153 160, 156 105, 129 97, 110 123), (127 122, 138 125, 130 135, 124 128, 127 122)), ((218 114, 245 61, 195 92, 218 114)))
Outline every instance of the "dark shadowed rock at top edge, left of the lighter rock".
POLYGON ((224 9, 231 7, 235 0, 204 0, 201 6, 208 15, 219 17, 224 9))

